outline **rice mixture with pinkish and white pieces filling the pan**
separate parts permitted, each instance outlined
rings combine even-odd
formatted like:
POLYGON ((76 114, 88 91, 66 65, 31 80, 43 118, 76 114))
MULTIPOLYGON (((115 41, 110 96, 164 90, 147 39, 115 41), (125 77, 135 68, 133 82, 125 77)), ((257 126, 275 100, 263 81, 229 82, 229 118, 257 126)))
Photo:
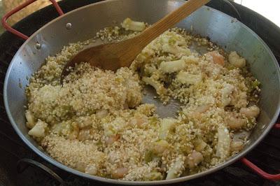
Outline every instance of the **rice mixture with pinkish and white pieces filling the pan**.
MULTIPOLYGON (((148 27, 128 18, 121 25, 96 39, 123 40, 148 27)), ((82 63, 60 85, 66 62, 89 42, 48 57, 26 89, 29 135, 58 162, 93 176, 164 180, 210 169, 243 148, 246 138, 236 135, 256 124, 260 83, 237 52, 174 28, 130 68, 114 73, 82 63), (162 104, 180 101, 178 114, 158 117, 142 102, 146 85, 162 104)))

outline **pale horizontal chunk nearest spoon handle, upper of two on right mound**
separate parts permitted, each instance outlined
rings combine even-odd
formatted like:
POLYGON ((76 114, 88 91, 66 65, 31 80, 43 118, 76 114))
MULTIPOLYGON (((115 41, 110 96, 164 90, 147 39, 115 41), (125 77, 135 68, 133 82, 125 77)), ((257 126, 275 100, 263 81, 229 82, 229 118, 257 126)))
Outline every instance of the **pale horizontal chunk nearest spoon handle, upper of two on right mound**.
POLYGON ((172 62, 162 62, 160 64, 160 70, 164 73, 173 73, 176 71, 181 71, 186 68, 186 62, 183 59, 172 61, 172 62))

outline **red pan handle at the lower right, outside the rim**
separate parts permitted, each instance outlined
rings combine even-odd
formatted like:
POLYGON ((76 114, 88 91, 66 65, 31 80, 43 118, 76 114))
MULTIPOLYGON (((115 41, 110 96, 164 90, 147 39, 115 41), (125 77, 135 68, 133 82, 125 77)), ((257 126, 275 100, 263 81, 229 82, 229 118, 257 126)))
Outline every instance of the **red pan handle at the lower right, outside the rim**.
MULTIPOLYGON (((274 128, 280 129, 280 124, 275 124, 274 128)), ((241 162, 248 166, 250 169, 252 169, 255 173, 258 173, 258 175, 262 176, 262 178, 265 178, 267 180, 280 180, 280 173, 279 174, 269 174, 265 171, 262 171, 258 166, 250 162, 245 157, 241 159, 241 162)))

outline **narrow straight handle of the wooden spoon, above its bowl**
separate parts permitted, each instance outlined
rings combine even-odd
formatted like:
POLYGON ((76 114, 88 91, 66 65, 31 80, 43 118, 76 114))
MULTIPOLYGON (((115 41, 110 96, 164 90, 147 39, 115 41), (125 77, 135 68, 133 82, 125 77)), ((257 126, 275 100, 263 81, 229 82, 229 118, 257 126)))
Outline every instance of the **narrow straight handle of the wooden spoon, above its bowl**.
POLYGON ((145 31, 143 31, 138 37, 138 44, 144 48, 148 45, 148 43, 151 43, 151 41, 160 36, 160 34, 167 31, 167 29, 174 27, 176 23, 180 22, 209 1, 210 0, 188 0, 177 10, 172 11, 172 13, 169 13, 151 27, 148 27, 145 31))

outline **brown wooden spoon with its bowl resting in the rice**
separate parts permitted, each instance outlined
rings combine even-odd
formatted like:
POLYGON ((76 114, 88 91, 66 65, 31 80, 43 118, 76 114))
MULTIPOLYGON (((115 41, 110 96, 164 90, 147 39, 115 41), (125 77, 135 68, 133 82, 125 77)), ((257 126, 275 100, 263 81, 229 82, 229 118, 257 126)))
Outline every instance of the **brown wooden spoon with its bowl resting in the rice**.
POLYGON ((78 52, 64 67, 62 80, 69 73, 69 66, 75 66, 79 62, 88 62, 92 66, 116 71, 120 67, 130 66, 139 53, 163 32, 174 27, 174 25, 204 6, 210 0, 188 0, 181 7, 169 13, 162 20, 148 27, 134 38, 85 48, 78 52))

